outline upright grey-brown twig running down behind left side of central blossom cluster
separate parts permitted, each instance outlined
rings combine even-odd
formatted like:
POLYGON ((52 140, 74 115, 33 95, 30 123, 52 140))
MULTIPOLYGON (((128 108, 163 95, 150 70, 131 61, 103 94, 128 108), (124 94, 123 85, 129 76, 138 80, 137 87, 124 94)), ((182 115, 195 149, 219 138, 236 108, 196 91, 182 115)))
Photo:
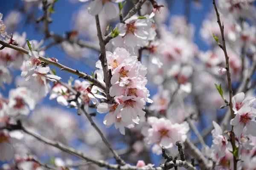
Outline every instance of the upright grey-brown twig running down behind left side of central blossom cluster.
POLYGON ((95 20, 96 20, 97 35, 99 38, 99 46, 100 46, 99 60, 101 61, 101 64, 102 64, 102 69, 103 69, 103 74, 104 74, 104 82, 106 83, 105 93, 107 95, 108 103, 113 103, 114 98, 109 95, 109 88, 111 88, 111 75, 108 71, 108 61, 106 58, 105 41, 103 40, 103 37, 102 37, 102 31, 100 28, 98 15, 95 16, 95 20))

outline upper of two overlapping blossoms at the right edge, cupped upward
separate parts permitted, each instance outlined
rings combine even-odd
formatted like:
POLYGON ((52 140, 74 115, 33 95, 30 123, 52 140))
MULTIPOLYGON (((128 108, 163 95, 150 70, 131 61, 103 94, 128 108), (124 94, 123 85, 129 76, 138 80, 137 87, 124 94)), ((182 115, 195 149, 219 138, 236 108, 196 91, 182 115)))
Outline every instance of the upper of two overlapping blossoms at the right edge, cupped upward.
POLYGON ((243 92, 236 94, 235 96, 232 97, 233 111, 235 112, 235 114, 245 104, 251 107, 256 102, 255 97, 246 97, 245 99, 244 97, 245 97, 245 94, 243 92))

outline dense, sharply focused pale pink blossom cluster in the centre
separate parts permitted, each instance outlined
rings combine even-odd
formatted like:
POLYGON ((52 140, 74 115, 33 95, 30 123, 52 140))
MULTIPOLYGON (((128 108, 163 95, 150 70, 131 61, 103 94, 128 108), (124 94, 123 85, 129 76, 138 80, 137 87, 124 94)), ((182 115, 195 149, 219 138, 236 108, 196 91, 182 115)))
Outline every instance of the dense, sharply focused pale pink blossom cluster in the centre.
MULTIPOLYGON (((147 68, 125 48, 116 48, 113 53, 107 51, 106 56, 112 74, 110 95, 115 96, 116 103, 100 103, 97 111, 109 112, 104 124, 109 127, 115 123, 116 129, 119 128, 120 133, 125 134, 124 127, 134 127, 134 123, 139 123, 138 116, 145 115, 145 102, 153 102, 148 98, 149 91, 145 88, 147 68)), ((96 67, 102 69, 100 61, 96 67)))

